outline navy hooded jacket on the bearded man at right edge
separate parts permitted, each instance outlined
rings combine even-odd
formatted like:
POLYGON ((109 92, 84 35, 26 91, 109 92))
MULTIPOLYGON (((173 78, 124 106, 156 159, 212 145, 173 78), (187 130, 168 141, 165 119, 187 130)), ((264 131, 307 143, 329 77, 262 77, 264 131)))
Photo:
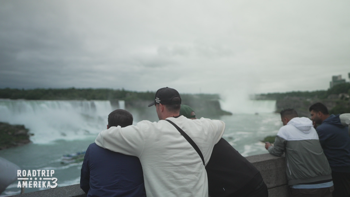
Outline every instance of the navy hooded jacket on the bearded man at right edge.
POLYGON ((350 136, 339 114, 330 115, 316 128, 324 155, 334 172, 350 172, 350 136))

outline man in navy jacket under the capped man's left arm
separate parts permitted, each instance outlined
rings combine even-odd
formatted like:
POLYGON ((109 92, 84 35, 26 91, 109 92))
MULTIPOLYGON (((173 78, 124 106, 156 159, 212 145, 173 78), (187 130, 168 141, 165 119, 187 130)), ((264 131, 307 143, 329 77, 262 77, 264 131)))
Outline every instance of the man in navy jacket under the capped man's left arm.
MULTIPOLYGON (((132 115, 123 109, 108 115, 107 129, 132 125, 132 115)), ((80 176, 80 188, 88 197, 146 197, 139 158, 90 144, 80 176)))

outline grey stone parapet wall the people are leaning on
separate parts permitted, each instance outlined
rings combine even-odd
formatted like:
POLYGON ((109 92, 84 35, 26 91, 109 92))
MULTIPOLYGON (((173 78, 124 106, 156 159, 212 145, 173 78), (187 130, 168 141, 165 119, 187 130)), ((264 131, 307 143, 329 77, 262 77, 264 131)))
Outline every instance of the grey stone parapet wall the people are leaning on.
MULTIPOLYGON (((268 188, 269 197, 288 197, 286 162, 284 157, 270 154, 246 157, 261 173, 268 188)), ((80 185, 69 185, 16 195, 16 197, 86 197, 80 185)))

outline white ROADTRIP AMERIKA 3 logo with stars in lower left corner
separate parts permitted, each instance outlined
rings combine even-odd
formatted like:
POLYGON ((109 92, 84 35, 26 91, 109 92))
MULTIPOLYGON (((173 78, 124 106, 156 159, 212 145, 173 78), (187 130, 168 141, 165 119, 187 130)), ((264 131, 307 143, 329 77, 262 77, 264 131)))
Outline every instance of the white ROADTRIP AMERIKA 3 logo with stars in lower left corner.
POLYGON ((56 188, 54 174, 55 170, 17 170, 17 188, 56 188))

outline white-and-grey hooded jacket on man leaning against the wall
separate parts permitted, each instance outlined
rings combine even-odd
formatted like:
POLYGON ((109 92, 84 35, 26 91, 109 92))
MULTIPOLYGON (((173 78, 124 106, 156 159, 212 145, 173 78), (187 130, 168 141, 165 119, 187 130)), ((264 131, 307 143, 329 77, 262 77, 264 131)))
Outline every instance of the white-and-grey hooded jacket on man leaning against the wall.
POLYGON ((280 128, 270 154, 282 156, 286 153, 288 185, 313 183, 332 178, 312 121, 306 117, 295 117, 280 128))

